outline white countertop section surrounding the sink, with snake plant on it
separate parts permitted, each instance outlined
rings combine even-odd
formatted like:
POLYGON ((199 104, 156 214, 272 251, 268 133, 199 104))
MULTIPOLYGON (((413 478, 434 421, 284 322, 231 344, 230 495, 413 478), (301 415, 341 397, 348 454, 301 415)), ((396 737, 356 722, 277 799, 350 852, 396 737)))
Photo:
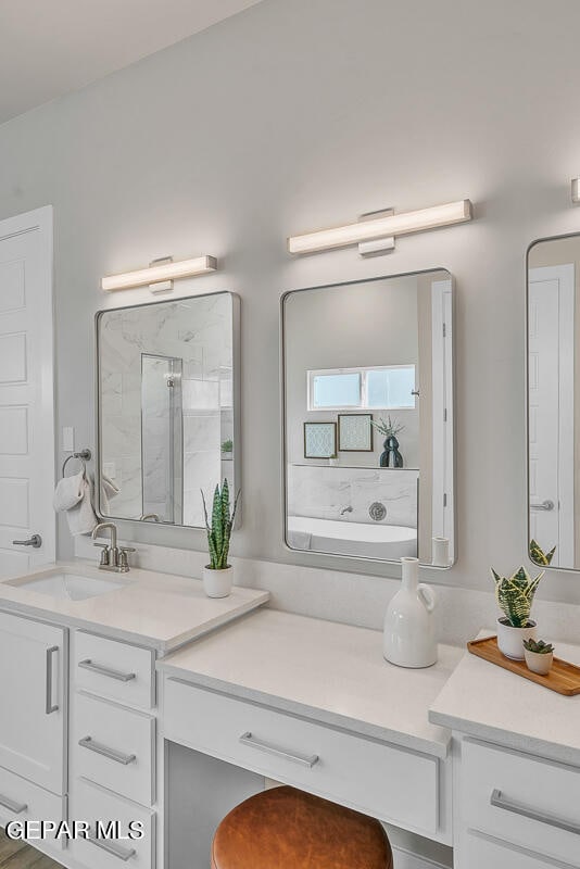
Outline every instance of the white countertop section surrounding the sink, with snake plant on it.
POLYGON ((269 599, 267 591, 234 587, 229 597, 206 597, 200 580, 151 570, 128 574, 99 570, 76 561, 48 565, 27 577, 68 572, 126 582, 97 597, 60 600, 48 594, 11 585, 15 577, 0 581, 0 608, 36 616, 67 627, 102 631, 110 637, 151 646, 160 654, 220 627, 254 609, 269 599))

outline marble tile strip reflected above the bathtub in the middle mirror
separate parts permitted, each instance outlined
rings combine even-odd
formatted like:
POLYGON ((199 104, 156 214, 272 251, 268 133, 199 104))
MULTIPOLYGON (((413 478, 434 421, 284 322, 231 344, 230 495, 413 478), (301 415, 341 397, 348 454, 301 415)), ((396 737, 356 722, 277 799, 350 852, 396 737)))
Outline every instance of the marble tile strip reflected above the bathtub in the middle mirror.
POLYGON ((383 525, 417 527, 418 470, 289 465, 288 512, 350 522, 370 521, 374 501, 387 507, 383 525), (344 507, 352 512, 341 515, 344 507))

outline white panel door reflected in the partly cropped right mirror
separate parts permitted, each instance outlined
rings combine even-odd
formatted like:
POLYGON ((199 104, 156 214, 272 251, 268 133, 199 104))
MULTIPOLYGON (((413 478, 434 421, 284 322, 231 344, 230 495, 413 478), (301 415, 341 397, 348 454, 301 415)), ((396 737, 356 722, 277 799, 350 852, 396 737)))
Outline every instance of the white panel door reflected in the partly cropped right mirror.
POLYGON ((530 536, 553 566, 573 545, 573 265, 531 268, 528 292, 530 536))

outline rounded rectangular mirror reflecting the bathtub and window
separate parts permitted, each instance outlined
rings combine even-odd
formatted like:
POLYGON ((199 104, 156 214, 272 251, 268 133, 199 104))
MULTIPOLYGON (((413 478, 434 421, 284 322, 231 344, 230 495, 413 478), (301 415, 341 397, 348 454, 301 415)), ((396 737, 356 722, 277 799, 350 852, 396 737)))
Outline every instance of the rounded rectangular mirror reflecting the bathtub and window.
POLYGON ((294 290, 281 317, 287 545, 450 567, 449 272, 294 290))

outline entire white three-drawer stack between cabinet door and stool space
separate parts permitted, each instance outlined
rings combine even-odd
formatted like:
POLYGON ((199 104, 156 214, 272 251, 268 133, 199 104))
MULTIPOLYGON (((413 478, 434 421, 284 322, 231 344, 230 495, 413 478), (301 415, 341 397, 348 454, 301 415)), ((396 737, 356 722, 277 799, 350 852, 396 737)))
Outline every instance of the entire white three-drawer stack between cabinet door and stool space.
POLYGON ((70 817, 108 824, 111 837, 70 844, 87 869, 155 866, 155 653, 74 631, 71 638, 70 817), (130 821, 143 835, 131 839, 130 821))

